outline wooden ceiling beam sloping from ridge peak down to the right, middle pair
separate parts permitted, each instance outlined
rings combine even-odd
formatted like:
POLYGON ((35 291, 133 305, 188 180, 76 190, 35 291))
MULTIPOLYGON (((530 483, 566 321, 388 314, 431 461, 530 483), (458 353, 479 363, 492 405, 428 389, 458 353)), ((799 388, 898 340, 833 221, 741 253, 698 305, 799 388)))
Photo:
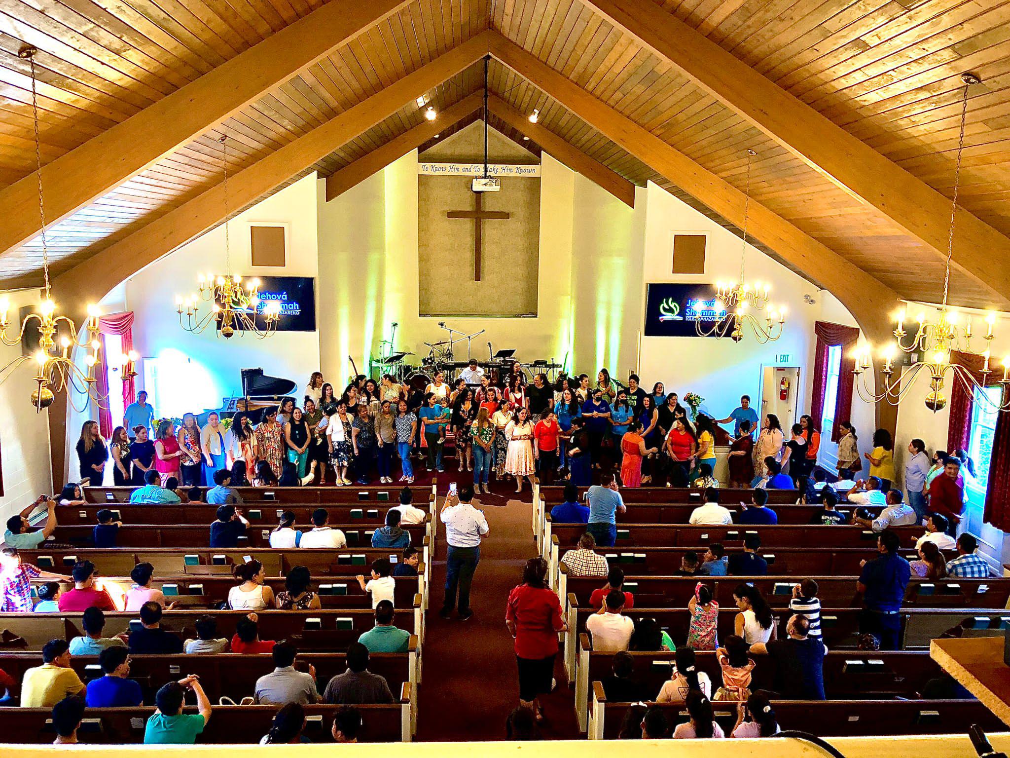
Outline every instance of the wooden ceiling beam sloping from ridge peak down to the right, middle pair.
MULTIPOLYGON (((697 198, 738 227, 743 226, 742 192, 698 165, 627 116, 582 89, 502 34, 491 32, 491 55, 617 147, 697 198)), ((751 199, 747 230, 819 286, 828 289, 848 309, 867 339, 876 345, 894 340, 887 314, 899 303, 894 290, 851 262, 751 199)), ((878 405, 878 421, 893 431, 897 419, 878 405)))

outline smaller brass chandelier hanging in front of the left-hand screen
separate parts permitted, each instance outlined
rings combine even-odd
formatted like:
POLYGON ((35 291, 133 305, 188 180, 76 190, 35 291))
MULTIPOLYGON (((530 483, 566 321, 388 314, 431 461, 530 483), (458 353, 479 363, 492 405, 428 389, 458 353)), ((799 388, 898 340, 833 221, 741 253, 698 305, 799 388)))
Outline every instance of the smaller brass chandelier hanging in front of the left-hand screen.
POLYGON ((221 135, 221 164, 224 167, 224 268, 223 276, 197 274, 198 291, 188 297, 176 295, 176 312, 179 324, 193 334, 200 334, 214 324, 218 336, 228 339, 235 330, 251 333, 258 339, 270 337, 277 331, 281 317, 281 303, 270 300, 266 303, 260 296, 260 280, 242 278, 231 274, 231 238, 228 233, 228 146, 227 137, 221 135), (207 312, 200 310, 201 303, 211 303, 207 312), (258 321, 258 311, 263 306, 258 321))

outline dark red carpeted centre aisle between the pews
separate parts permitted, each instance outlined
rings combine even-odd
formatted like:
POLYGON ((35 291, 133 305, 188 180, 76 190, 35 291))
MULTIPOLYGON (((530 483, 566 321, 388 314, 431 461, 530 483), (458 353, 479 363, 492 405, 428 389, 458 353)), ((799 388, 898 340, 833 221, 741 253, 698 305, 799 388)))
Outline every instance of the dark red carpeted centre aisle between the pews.
MULTIPOLYGON (((472 481, 472 474, 452 469, 438 475, 439 507, 450 480, 472 481)), ((471 593, 474 618, 468 622, 454 614, 446 622, 438 615, 445 583, 445 530, 439 525, 420 686, 419 741, 502 740, 505 720, 519 704, 505 601, 519 583, 523 564, 536 551, 529 528, 529 490, 523 493, 526 502, 507 500, 512 487, 510 482, 492 484, 495 494, 483 496, 481 507, 491 534, 481 546, 471 593)), ((543 699, 548 719, 542 729, 544 739, 578 737, 574 694, 562 671, 559 655, 558 689, 543 699)))

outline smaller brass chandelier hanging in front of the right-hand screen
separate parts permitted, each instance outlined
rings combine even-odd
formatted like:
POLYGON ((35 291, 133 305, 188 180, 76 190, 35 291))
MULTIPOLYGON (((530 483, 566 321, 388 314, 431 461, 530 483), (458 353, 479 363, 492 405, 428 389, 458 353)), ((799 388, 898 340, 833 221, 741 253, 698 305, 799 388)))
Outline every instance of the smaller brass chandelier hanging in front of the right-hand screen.
POLYGON ((744 264, 747 255, 747 217, 750 210, 750 163, 758 154, 747 150, 746 191, 743 200, 743 247, 740 250, 740 279, 738 282, 717 282, 712 301, 695 300, 688 313, 695 322, 698 337, 728 337, 734 343, 743 340, 743 327, 748 326, 760 345, 782 337, 786 322, 786 306, 776 308, 769 301, 771 286, 768 283, 744 281, 744 264), (711 304, 709 304, 711 303, 711 304), (702 321, 710 321, 708 327, 702 321))

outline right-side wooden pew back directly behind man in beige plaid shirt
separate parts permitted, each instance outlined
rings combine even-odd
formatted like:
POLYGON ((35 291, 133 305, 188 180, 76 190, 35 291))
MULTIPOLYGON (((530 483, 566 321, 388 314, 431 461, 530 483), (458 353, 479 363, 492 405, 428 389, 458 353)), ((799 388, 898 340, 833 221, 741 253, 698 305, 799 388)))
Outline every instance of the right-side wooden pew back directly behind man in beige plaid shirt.
MULTIPOLYGON (((628 567, 628 571, 633 570, 628 567)), ((605 578, 571 576, 563 566, 568 594, 578 598, 579 605, 589 605, 594 589, 606 584, 605 578)), ((634 594, 636 605, 643 607, 687 607, 695 585, 704 581, 722 607, 733 607, 733 589, 741 582, 756 587, 773 607, 789 604, 792 587, 801 578, 791 576, 637 576, 627 573, 626 589, 634 594)), ((817 596, 824 607, 857 606, 855 591, 857 576, 810 576, 817 582, 817 596)), ((1006 608, 1010 600, 1010 578, 941 579, 931 581, 913 578, 905 593, 906 606, 1006 608)))

